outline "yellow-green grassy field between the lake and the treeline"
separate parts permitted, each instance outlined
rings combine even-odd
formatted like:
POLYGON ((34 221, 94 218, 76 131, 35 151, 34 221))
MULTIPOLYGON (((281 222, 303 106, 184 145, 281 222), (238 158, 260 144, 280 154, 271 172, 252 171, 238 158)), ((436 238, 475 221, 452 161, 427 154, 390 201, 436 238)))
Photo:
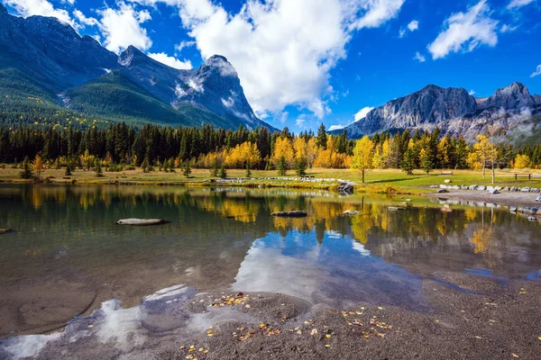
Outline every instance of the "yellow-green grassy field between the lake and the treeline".
MULTIPOLYGON (((19 173, 21 169, 14 169, 11 166, 6 166, 4 169, 0 169, 0 181, 3 182, 27 182, 20 178, 19 173)), ((47 169, 42 173, 42 178, 50 178, 50 181, 55 183, 70 183, 75 180, 78 184, 108 184, 115 182, 130 182, 136 184, 192 184, 202 185, 208 184, 208 181, 212 179, 210 173, 206 169, 193 169, 192 176, 186 178, 182 175, 180 170, 176 173, 164 173, 164 172, 151 172, 145 174, 141 169, 127 170, 122 172, 106 172, 104 171, 103 177, 96 177, 94 171, 75 170, 73 175, 66 177, 64 175, 65 169, 47 169)), ((417 171, 414 175, 406 175, 402 171, 396 169, 389 170, 371 170, 366 173, 366 184, 362 186, 361 174, 349 169, 319 169, 314 168, 307 171, 308 176, 314 176, 316 178, 335 178, 350 180, 361 185, 360 189, 364 189, 367 192, 371 190, 373 192, 379 192, 382 187, 387 184, 400 189, 408 189, 410 191, 429 191, 429 186, 433 184, 444 184, 445 179, 452 180, 452 184, 457 185, 472 185, 472 184, 491 184, 491 173, 487 172, 486 178, 482 178, 481 171, 472 170, 458 170, 454 171, 454 175, 440 175, 441 171, 431 173, 429 176, 417 171)), ((541 187, 541 172, 534 172, 537 176, 531 181, 527 180, 527 177, 518 178, 516 181, 513 171, 500 171, 496 173, 496 185, 500 186, 531 186, 541 187)), ((228 170, 228 178, 243 178, 245 176, 244 170, 228 170)), ((288 177, 295 178, 296 175, 293 171, 289 171, 288 177)), ((268 186, 279 187, 314 187, 314 188, 327 188, 332 187, 330 183, 298 183, 296 181, 270 181, 262 180, 263 178, 279 177, 276 171, 252 171, 252 178, 254 179, 252 184, 265 184, 268 186), (261 179, 261 180, 258 180, 261 179)), ((281 176, 280 176, 281 177, 281 176)))

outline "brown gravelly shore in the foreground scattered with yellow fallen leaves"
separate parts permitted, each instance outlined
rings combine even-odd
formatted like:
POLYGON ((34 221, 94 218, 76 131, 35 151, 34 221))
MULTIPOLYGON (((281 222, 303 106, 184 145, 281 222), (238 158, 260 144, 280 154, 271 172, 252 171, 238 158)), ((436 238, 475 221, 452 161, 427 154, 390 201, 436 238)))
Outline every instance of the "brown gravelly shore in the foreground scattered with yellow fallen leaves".
MULTIPOLYGON (((481 276, 436 273, 424 281, 423 293, 428 311, 369 303, 335 309, 268 293, 231 293, 225 301, 224 293, 200 294, 167 318, 143 321, 147 338, 128 336, 129 350, 85 335, 103 326, 86 318, 71 325, 70 338, 50 341, 36 358, 539 358, 541 281, 497 284, 481 276), (240 301, 228 304, 227 299, 240 301), (188 334, 167 326, 202 315, 212 316, 188 334)), ((0 342, 2 356, 7 357, 0 342)))

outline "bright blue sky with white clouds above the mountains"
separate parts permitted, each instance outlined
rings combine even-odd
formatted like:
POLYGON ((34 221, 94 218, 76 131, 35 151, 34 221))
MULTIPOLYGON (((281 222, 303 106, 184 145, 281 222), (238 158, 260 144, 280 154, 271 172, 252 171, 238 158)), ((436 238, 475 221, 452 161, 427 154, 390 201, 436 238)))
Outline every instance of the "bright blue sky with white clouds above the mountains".
POLYGON ((0 1, 174 67, 224 55, 256 113, 296 132, 428 84, 482 97, 519 81, 541 94, 540 0, 0 1))

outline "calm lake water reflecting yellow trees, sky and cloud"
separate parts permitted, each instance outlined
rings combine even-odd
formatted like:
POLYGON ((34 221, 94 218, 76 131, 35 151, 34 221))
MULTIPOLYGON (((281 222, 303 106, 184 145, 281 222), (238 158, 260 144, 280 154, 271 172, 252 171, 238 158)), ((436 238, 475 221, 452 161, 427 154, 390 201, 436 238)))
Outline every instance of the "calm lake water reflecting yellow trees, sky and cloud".
POLYGON ((0 338, 184 284, 427 311, 446 272, 536 279, 541 224, 504 208, 264 189, 0 185, 0 338), (273 211, 306 210, 304 219, 273 211), (344 216, 345 210, 360 211, 344 216), (162 218, 124 227, 125 218, 162 218))

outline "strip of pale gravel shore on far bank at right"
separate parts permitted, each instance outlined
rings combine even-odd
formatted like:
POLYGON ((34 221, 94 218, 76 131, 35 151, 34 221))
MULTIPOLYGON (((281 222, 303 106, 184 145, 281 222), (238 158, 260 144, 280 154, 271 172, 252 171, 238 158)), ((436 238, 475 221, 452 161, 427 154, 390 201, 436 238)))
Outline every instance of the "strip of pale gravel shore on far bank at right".
POLYGON ((492 195, 489 192, 475 190, 450 190, 449 193, 430 193, 429 197, 461 200, 464 202, 490 202, 504 206, 531 206, 541 208, 536 197, 541 193, 503 192, 492 195))

